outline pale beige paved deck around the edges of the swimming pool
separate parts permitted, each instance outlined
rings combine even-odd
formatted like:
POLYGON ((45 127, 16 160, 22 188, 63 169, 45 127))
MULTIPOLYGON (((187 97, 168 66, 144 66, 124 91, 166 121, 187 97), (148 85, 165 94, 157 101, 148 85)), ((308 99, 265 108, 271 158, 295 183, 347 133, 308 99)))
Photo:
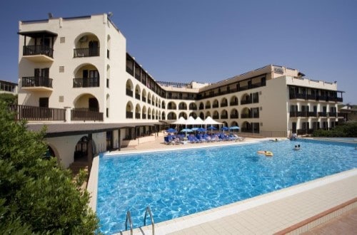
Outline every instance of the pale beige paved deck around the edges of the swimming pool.
MULTIPOLYGON (((125 148, 120 152, 111 152, 109 155, 215 145, 215 143, 202 143, 170 146, 163 145, 162 139, 159 137, 155 142, 125 148)), ((244 142, 219 142, 218 145, 241 145, 256 141, 257 139, 246 138, 244 142)), ((99 160, 96 157, 88 187, 92 196, 91 207, 94 209, 98 164, 99 160)), ((311 229, 315 227, 318 229, 317 226, 333 221, 348 211, 356 211, 357 214, 356 182, 357 169, 351 169, 241 202, 157 223, 155 234, 301 234, 306 231, 311 231, 313 234, 311 229)), ((351 220, 351 217, 347 216, 347 219, 351 220)), ((332 229, 335 228, 336 232, 341 231, 336 230, 336 226, 330 226, 332 229)), ((134 229, 134 234, 151 234, 151 229, 151 225, 144 226, 134 229)), ((346 229, 351 229, 351 234, 356 233, 357 225, 346 226, 346 229)), ((342 231, 346 234, 346 230, 342 231)), ((333 230, 331 232, 333 233, 333 230)), ((318 234, 318 230, 316 233, 318 234)), ((121 234, 130 234, 130 231, 121 234)))

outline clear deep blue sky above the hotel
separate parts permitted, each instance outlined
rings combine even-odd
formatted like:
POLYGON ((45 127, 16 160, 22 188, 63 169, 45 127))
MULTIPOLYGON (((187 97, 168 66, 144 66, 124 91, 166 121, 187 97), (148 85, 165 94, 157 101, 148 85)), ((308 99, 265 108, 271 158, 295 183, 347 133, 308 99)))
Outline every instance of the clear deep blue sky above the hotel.
POLYGON ((156 80, 218 82, 268 64, 337 81, 357 104, 357 1, 1 1, 1 80, 17 82, 19 21, 113 12, 156 80))

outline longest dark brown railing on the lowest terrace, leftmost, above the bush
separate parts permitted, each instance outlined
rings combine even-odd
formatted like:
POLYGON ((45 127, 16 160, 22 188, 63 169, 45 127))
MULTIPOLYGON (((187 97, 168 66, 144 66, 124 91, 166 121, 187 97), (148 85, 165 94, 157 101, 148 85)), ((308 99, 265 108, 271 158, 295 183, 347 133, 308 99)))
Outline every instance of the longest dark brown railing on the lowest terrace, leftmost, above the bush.
POLYGON ((16 120, 66 121, 66 110, 62 108, 43 108, 28 105, 11 105, 16 120))

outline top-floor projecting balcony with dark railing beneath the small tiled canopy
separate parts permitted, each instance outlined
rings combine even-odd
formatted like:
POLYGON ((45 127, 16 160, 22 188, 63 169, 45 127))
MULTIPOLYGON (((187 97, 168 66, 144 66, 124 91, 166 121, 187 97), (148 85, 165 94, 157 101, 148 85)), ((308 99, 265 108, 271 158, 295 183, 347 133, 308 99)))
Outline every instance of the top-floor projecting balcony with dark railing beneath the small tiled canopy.
POLYGON ((54 49, 44 45, 24 46, 22 55, 33 62, 54 61, 54 49))

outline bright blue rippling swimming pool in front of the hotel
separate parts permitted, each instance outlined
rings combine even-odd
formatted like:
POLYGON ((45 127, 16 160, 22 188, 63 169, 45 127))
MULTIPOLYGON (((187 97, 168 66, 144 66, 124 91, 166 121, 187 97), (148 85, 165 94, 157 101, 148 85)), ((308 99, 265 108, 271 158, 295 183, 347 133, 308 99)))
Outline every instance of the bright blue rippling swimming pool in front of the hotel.
POLYGON ((101 231, 124 230, 127 210, 134 226, 142 226, 148 205, 157 223, 356 168, 355 147, 303 140, 101 157, 101 231))

